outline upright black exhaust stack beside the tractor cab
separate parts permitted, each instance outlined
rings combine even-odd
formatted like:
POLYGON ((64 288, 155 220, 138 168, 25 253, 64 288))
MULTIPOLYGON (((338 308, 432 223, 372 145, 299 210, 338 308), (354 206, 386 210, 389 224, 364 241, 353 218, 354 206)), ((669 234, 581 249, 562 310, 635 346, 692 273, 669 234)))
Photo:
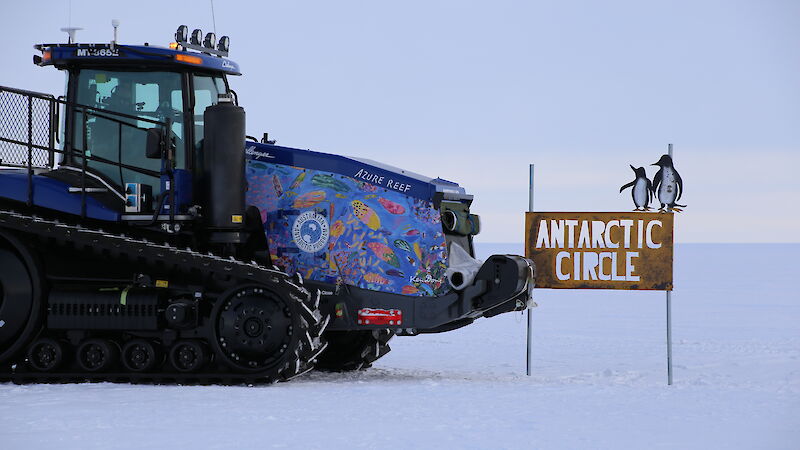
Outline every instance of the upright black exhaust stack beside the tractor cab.
POLYGON ((247 240, 245 232, 245 117, 244 109, 220 96, 206 108, 201 192, 211 242, 235 244, 247 240))

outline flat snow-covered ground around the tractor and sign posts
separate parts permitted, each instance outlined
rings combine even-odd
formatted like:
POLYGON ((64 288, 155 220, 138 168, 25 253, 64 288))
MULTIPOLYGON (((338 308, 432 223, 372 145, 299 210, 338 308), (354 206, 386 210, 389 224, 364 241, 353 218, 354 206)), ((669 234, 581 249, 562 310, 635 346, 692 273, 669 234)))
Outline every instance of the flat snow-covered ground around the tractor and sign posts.
POLYGON ((273 386, 0 384, 0 448, 797 449, 798 253, 677 247, 673 386, 663 292, 537 290, 532 377, 506 314, 273 386))

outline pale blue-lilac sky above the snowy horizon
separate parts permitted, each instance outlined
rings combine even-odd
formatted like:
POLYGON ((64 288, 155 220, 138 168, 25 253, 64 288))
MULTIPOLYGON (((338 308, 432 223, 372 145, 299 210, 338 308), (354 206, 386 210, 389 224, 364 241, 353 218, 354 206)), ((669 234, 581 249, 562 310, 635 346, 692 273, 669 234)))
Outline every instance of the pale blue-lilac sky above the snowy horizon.
MULTIPOLYGON (((32 45, 67 0, 3 0, 0 85, 61 94, 32 45)), ((456 181, 478 242, 540 211, 633 207, 628 164, 675 145, 677 242, 800 242, 800 1, 221 1, 248 134, 456 181)), ((167 45, 210 2, 73 0, 80 42, 167 45)))

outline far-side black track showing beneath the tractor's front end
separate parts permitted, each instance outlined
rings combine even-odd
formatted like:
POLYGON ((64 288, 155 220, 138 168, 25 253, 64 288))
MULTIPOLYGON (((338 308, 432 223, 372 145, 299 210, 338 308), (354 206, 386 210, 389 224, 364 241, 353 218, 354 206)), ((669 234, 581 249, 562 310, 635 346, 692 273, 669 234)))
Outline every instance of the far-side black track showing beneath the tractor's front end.
POLYGON ((328 331, 325 338, 328 349, 317 361, 317 369, 329 372, 347 372, 367 369, 372 363, 389 353, 389 330, 328 331))

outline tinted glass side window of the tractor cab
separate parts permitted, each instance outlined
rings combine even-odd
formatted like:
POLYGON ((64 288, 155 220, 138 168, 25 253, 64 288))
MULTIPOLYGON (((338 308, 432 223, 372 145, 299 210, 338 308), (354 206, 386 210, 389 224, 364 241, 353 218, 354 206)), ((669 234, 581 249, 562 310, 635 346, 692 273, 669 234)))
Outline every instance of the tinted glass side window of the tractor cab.
MULTIPOLYGON (((177 168, 185 168, 181 86, 181 74, 178 72, 85 69, 78 75, 75 102, 160 122, 172 119, 172 132, 176 138, 176 165, 177 168)), ((87 116, 87 142, 84 146, 83 113, 80 109, 75 113, 76 149, 112 162, 160 171, 160 160, 145 157, 147 133, 143 129, 153 128, 156 124, 118 116, 111 116, 114 120, 91 114, 87 116)), ((153 187, 154 194, 159 191, 160 183, 155 177, 96 160, 89 160, 88 165, 120 186, 125 183, 144 183, 153 187)))

